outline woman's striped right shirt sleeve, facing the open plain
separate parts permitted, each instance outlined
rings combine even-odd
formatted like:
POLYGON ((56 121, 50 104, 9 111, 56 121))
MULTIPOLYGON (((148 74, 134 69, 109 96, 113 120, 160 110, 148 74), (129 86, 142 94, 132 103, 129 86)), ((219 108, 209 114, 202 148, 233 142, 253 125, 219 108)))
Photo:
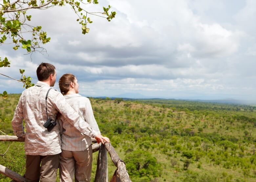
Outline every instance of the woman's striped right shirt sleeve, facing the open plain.
POLYGON ((100 135, 98 124, 94 118, 93 108, 89 99, 86 99, 84 120, 100 135))

